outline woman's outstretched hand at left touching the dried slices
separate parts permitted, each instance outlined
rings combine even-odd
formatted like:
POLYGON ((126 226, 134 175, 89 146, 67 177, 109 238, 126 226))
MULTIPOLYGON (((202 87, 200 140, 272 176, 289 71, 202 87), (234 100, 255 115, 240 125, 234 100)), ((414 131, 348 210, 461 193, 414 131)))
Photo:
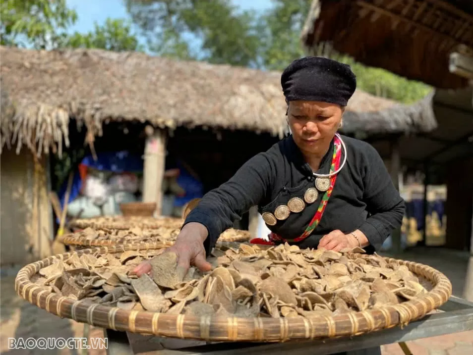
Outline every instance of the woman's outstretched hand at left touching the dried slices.
MULTIPOLYGON (((207 235, 207 228, 204 225, 196 222, 187 223, 177 236, 176 243, 166 249, 164 253, 176 253, 177 266, 184 268, 186 272, 190 265, 199 268, 201 271, 209 271, 212 269, 212 265, 205 260, 204 249, 204 240, 207 235)), ((138 277, 150 271, 151 264, 149 260, 143 261, 133 270, 138 277)))

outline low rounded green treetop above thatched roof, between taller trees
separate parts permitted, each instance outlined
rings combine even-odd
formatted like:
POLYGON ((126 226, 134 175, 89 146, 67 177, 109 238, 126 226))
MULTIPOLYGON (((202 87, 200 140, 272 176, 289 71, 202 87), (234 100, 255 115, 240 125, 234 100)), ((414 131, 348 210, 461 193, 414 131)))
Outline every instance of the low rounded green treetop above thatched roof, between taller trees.
POLYGON ((131 25, 122 19, 108 18, 103 26, 95 23, 94 31, 75 32, 67 38, 64 47, 101 48, 108 51, 143 51, 131 25))

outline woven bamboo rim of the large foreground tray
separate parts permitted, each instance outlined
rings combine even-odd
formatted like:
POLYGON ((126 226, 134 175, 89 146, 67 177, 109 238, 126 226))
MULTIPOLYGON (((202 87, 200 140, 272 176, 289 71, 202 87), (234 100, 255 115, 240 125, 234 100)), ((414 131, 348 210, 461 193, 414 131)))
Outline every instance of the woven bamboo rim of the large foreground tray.
MULTIPOLYGON (((394 261, 406 265, 417 276, 433 284, 433 289, 419 298, 397 305, 387 305, 360 312, 311 318, 237 318, 222 316, 195 317, 185 314, 167 314, 151 311, 124 310, 101 304, 90 304, 60 297, 32 283, 30 278, 53 260, 64 260, 73 254, 99 252, 121 253, 128 250, 163 248, 162 244, 129 244, 112 247, 83 249, 58 254, 24 266, 16 276, 15 291, 24 300, 62 318, 88 323, 97 327, 129 331, 132 333, 180 339, 206 341, 283 342, 288 340, 335 338, 360 335, 395 326, 403 326, 419 319, 448 301, 452 284, 441 272, 413 261, 394 261)), ((349 258, 366 257, 364 254, 347 254, 349 258)))

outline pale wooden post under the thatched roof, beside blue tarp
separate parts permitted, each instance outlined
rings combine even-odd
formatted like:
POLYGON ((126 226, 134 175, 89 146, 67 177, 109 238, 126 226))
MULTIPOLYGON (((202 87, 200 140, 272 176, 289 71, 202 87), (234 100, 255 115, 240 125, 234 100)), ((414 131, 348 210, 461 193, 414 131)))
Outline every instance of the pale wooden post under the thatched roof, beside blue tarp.
POLYGON ((143 166, 143 202, 156 202, 156 215, 161 215, 164 169, 166 162, 166 131, 146 127, 143 166))

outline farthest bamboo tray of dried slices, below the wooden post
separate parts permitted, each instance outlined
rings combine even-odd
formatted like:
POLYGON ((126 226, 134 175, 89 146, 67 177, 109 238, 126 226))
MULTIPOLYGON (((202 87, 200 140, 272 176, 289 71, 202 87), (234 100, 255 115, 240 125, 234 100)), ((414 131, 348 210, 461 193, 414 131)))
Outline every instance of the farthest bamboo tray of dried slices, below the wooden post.
POLYGON ((162 227, 180 228, 182 219, 176 217, 110 216, 79 218, 69 223, 70 228, 99 230, 128 230, 132 228, 156 229, 162 227))

